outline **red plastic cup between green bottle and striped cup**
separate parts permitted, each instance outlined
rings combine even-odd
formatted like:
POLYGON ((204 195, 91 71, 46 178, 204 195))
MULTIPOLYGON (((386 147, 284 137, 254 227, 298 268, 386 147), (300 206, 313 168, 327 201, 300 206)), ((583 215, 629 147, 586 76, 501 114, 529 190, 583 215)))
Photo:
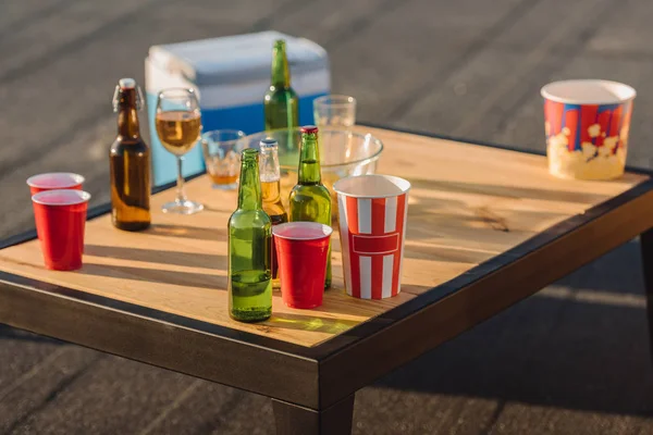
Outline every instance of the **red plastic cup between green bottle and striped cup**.
POLYGON ((281 297, 292 308, 322 304, 329 241, 333 229, 316 222, 289 222, 272 227, 281 297))

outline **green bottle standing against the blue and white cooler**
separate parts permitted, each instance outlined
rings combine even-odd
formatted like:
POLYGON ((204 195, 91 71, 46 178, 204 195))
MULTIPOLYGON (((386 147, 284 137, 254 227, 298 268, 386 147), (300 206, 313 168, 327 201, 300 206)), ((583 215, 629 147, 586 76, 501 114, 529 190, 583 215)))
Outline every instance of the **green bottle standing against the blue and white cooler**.
POLYGON ((283 39, 274 42, 272 80, 263 99, 263 111, 267 130, 294 128, 299 125, 299 100, 291 87, 291 70, 283 39))

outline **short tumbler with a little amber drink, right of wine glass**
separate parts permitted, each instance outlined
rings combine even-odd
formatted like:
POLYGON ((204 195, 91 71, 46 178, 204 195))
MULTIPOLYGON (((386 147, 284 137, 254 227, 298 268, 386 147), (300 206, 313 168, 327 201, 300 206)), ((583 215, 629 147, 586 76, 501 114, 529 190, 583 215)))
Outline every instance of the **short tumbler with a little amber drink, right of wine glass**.
POLYGON ((231 190, 238 185, 241 159, 236 146, 244 137, 239 129, 215 129, 201 135, 207 172, 214 188, 231 190))

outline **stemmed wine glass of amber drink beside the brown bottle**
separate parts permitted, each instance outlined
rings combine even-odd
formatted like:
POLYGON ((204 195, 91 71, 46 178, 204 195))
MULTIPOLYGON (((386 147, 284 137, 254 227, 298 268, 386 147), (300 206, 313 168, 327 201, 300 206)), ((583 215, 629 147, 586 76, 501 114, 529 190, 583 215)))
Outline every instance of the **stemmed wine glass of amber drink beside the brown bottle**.
POLYGON ((193 214, 204 206, 190 201, 184 192, 183 156, 190 151, 201 133, 201 113, 193 88, 164 89, 157 98, 157 134, 163 147, 177 159, 176 198, 163 204, 164 213, 193 214))

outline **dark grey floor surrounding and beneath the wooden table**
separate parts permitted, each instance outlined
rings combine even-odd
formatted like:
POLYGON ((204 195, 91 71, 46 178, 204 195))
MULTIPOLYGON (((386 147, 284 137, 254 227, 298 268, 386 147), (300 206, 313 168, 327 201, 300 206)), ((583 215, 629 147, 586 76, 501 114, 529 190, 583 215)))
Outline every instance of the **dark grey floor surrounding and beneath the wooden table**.
MULTIPOLYGON (((87 176, 108 200, 115 80, 151 45, 273 28, 331 55, 364 122, 544 149, 539 88, 638 90, 629 163, 651 166, 649 0, 5 0, 0 236, 24 181, 87 176)), ((653 374, 633 241, 357 396, 355 434, 650 434, 653 374)), ((1 303, 1 300, 0 300, 1 303)), ((0 326, 0 434, 270 434, 268 401, 0 326)))

